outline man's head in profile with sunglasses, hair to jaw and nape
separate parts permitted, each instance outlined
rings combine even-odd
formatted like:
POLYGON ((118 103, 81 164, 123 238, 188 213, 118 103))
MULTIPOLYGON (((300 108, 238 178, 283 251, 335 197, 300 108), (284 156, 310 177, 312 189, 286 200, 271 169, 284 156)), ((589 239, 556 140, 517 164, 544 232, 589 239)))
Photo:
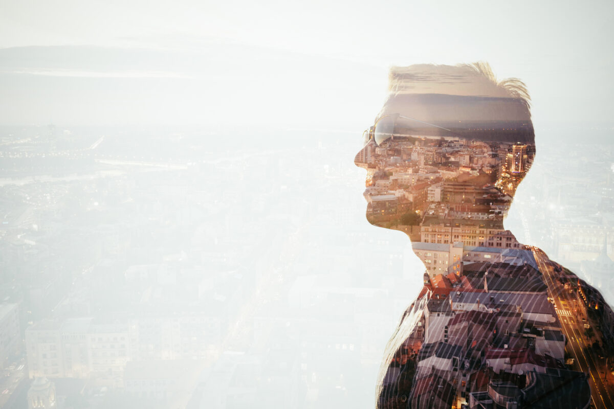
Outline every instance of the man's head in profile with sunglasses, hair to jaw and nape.
POLYGON ((367 169, 367 219, 413 242, 491 244, 535 154, 524 84, 497 81, 485 63, 420 64, 392 67, 388 91, 355 158, 367 169), (441 220, 483 234, 424 227, 441 220))

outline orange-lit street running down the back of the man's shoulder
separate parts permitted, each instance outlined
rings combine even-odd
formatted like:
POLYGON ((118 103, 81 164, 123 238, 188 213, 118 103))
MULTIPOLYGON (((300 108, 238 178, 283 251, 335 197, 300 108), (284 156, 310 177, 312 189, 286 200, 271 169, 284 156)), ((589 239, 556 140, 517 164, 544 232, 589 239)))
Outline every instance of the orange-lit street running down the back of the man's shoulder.
MULTIPOLYGON (((593 356, 589 352, 591 342, 586 340, 583 326, 585 322, 581 321, 581 313, 573 311, 573 295, 569 294, 569 291, 565 291, 563 285, 561 285, 557 273, 554 272, 554 267, 550 265, 548 256, 540 250, 535 250, 533 254, 540 272, 543 273, 544 280, 548 286, 548 292, 554 299, 554 307, 561 322, 561 329, 568 340, 567 345, 565 345, 565 351, 570 353, 575 359, 579 370, 589 373, 589 384, 591 385, 591 395, 595 407, 604 409, 614 408, 614 400, 608 394, 604 384, 607 382, 605 381, 604 372, 599 370, 604 367, 605 362, 600 362, 604 361, 604 359, 593 356)), ((610 375, 610 382, 614 382, 612 375, 610 375)))

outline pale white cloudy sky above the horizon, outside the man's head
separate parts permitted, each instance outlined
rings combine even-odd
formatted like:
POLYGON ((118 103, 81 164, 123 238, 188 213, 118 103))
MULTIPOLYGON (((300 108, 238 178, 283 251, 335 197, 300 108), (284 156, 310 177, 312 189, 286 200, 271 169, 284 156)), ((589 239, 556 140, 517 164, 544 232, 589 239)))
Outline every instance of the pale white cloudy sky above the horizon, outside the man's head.
POLYGON ((611 120, 611 2, 2 1, 0 124, 364 127, 387 70, 488 61, 611 120))

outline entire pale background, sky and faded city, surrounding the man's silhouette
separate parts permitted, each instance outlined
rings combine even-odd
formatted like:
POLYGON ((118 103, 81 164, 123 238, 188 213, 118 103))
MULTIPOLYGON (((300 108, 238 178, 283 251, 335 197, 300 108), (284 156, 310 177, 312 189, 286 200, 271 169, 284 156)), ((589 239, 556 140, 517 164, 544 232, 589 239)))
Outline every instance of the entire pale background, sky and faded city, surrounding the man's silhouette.
MULTIPOLYGON (((373 407, 426 259, 368 222, 354 165, 392 64, 527 83, 505 229, 614 304, 612 6, 467 7, 7 4, 0 407, 373 407)), ((562 325, 602 343, 572 290, 562 325)), ((578 353, 612 394, 614 362, 578 353)))

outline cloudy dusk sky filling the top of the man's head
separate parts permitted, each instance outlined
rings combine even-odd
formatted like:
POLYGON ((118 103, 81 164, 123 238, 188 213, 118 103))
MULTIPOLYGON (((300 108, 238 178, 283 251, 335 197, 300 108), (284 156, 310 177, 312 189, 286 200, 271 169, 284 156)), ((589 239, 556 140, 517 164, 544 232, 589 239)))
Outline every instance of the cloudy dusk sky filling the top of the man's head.
POLYGON ((497 80, 488 63, 392 67, 388 90, 376 122, 398 114, 416 120, 418 133, 424 123, 438 126, 431 136, 511 143, 535 139, 526 85, 518 78, 497 80))

